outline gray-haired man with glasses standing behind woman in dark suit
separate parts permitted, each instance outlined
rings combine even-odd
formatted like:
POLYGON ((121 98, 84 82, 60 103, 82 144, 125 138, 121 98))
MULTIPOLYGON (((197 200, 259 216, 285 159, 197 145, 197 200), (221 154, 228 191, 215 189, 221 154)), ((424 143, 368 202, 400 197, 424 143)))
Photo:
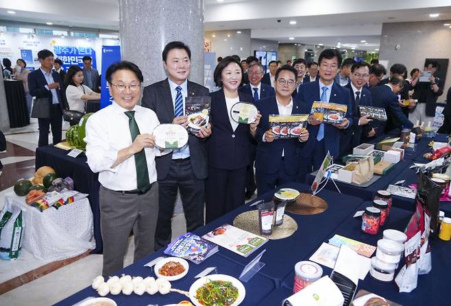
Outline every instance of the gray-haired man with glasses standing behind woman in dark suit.
MULTIPOLYGON (((265 99, 267 97, 273 97, 276 95, 274 92, 274 88, 267 84, 263 84, 261 79, 263 78, 263 73, 265 73, 265 68, 258 63, 252 62, 249 64, 247 68, 247 76, 249 77, 249 84, 246 84, 242 88, 239 89, 239 92, 243 92, 249 94, 254 97, 254 101, 257 103, 260 99, 265 99)), ((246 173, 246 193, 245 199, 250 199, 252 194, 254 194, 257 186, 254 179, 254 161, 255 161, 255 150, 257 143, 252 141, 252 145, 250 147, 249 153, 251 157, 251 162, 249 166, 247 166, 246 173)))

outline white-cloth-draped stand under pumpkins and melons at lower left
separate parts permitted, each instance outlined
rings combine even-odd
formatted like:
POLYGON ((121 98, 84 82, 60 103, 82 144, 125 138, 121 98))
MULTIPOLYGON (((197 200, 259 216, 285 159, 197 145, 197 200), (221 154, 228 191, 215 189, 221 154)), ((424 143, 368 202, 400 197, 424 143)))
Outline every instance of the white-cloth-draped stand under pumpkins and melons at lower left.
POLYGON ((10 192, 5 194, 5 205, 22 209, 25 221, 22 246, 40 260, 75 257, 95 247, 93 212, 86 198, 40 212, 25 203, 25 196, 10 192))

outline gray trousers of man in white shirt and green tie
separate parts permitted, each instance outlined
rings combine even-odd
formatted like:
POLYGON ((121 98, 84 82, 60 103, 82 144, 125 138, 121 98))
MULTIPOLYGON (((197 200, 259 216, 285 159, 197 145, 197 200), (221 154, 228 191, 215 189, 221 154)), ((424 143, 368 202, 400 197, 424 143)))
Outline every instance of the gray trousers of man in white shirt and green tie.
POLYGON ((145 194, 123 194, 100 186, 100 228, 103 239, 102 275, 123 268, 127 239, 134 233, 134 262, 154 253, 158 218, 158 183, 145 194))

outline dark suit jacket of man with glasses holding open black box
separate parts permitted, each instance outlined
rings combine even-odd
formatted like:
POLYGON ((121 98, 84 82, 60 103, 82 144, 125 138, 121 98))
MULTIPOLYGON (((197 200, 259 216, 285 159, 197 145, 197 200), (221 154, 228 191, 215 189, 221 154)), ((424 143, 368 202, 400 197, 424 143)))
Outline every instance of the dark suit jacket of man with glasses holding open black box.
MULTIPOLYGON (((356 97, 354 96, 354 92, 352 91, 351 83, 346 84, 344 86, 350 90, 351 94, 351 103, 352 103, 352 127, 350 129, 344 129, 343 134, 348 135, 349 133, 353 134, 353 144, 352 146, 358 145, 357 142, 360 142, 362 133, 365 133, 365 136, 372 129, 372 121, 367 125, 358 125, 358 119, 360 119, 361 115, 358 110, 358 105, 356 105, 356 97)), ((359 105, 367 105, 371 106, 371 92, 369 92, 368 88, 362 87, 360 94, 360 104, 359 105)))

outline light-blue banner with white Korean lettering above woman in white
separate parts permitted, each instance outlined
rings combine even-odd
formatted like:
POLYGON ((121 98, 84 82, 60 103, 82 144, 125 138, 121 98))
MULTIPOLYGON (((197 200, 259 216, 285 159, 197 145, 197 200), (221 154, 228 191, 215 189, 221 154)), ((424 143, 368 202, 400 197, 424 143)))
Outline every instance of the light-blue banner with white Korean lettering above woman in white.
POLYGON ((67 71, 70 66, 83 68, 83 57, 88 55, 93 58, 93 67, 97 68, 95 50, 91 47, 53 46, 56 58, 62 61, 62 68, 67 71))

